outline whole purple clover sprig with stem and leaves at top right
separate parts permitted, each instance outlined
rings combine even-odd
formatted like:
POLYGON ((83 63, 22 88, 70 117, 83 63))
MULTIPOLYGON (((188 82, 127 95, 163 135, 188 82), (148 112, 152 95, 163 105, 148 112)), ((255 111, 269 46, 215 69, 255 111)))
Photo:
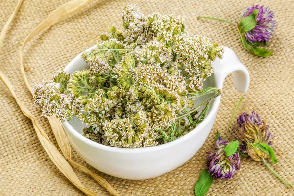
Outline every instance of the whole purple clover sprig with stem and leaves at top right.
POLYGON ((254 55, 267 57, 273 52, 259 46, 268 45, 273 36, 277 22, 273 19, 274 13, 265 6, 253 5, 248 7, 241 16, 240 22, 213 18, 208 16, 199 16, 198 18, 207 18, 237 25, 240 39, 245 49, 254 55))

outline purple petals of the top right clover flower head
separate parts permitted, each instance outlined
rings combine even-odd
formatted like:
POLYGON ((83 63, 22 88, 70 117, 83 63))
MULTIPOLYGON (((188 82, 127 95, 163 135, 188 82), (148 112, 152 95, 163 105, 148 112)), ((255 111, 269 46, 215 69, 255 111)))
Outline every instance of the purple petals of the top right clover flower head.
POLYGON ((277 22, 273 20, 274 13, 267 7, 253 5, 252 7, 249 7, 245 10, 242 18, 251 15, 255 9, 259 10, 256 18, 257 24, 252 30, 245 32, 244 35, 251 43, 264 41, 270 42, 270 37, 273 36, 272 33, 275 26, 277 25, 277 22))

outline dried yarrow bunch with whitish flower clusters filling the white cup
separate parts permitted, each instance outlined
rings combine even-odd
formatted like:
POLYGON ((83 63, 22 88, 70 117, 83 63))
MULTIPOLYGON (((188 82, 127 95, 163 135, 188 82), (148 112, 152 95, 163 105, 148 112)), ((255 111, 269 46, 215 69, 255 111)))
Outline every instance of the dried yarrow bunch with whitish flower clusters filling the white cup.
POLYGON ((59 72, 36 85, 35 105, 61 123, 78 117, 87 125, 85 137, 113 147, 152 147, 185 135, 220 95, 203 89, 203 81, 223 47, 185 32, 184 21, 126 6, 124 29, 113 25, 97 48, 82 54, 89 69, 59 72), (195 105, 205 94, 212 96, 195 105))

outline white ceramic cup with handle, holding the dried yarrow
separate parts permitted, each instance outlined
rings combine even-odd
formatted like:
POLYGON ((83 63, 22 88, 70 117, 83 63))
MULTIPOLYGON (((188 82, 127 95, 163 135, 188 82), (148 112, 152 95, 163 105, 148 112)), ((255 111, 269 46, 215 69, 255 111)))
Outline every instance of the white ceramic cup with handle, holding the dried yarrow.
MULTIPOLYGON (((73 73, 88 67, 80 55, 69 63, 65 71, 73 73)), ((225 77, 234 72, 237 90, 243 93, 247 91, 249 73, 232 49, 225 47, 223 59, 216 60, 214 67, 215 74, 205 81, 205 86, 222 88, 225 77)), ((142 180, 170 172, 196 154, 211 131, 220 100, 221 96, 211 102, 206 118, 190 133, 155 147, 126 149, 98 144, 82 136, 82 128, 85 126, 77 118, 66 121, 63 126, 74 149, 91 166, 115 177, 142 180)))

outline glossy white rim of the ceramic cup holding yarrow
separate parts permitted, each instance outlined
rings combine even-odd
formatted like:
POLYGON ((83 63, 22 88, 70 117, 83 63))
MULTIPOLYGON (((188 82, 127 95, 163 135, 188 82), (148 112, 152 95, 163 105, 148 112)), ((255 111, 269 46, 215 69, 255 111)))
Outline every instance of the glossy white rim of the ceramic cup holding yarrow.
MULTIPOLYGON (((90 51, 90 50, 92 50, 94 48, 96 48, 96 46, 93 46, 93 47, 91 47, 89 49, 86 49, 85 51, 90 51)), ((70 69, 72 66, 74 66, 76 64, 76 61, 81 58, 81 54, 82 53, 80 53, 76 57, 74 57, 73 60, 65 67, 64 71, 68 71, 68 69, 70 69)), ((211 75, 210 77, 215 77, 215 74, 211 75)), ((155 151, 155 150, 168 148, 170 146, 173 146, 173 145, 176 145, 178 143, 184 142, 185 140, 188 139, 188 137, 192 137, 192 135, 197 134, 203 127, 206 126, 206 124, 209 123, 209 121, 213 118, 213 115, 218 112, 218 106, 220 104, 220 101, 221 101, 221 95, 219 95, 218 97, 216 97, 215 99, 213 99, 211 101, 211 104, 210 104, 211 109, 210 109, 209 113, 206 115, 204 120, 201 123, 199 123, 199 125, 196 126, 196 128, 191 130, 189 133, 187 133, 186 135, 184 135, 184 136, 182 136, 180 138, 177 138, 176 140, 173 140, 172 142, 168 142, 168 143, 153 146, 153 147, 143 147, 143 148, 111 147, 111 146, 107 146, 107 145, 104 145, 104 144, 94 142, 94 141, 84 137, 77 130, 75 130, 73 128, 73 126, 67 120, 62 124, 62 126, 64 127, 64 129, 66 131, 69 131, 71 134, 73 134, 73 136, 75 138, 77 138, 81 142, 83 142, 83 143, 85 143, 87 145, 90 145, 92 147, 96 147, 96 148, 105 150, 105 151, 120 152, 120 153, 141 153, 141 152, 147 152, 147 151, 155 151)))

